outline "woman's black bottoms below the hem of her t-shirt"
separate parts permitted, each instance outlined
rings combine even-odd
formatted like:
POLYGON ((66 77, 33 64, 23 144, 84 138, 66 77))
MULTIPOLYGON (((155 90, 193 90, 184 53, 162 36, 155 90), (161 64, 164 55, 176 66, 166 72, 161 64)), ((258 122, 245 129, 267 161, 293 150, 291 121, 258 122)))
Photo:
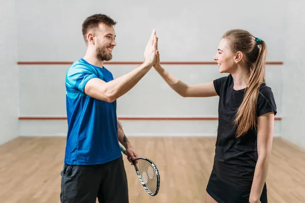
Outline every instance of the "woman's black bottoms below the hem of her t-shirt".
MULTIPOLYGON (((251 190, 235 188, 221 181, 212 170, 206 192, 219 203, 248 203, 251 190)), ((267 203, 267 187, 264 185, 261 203, 267 203)))

